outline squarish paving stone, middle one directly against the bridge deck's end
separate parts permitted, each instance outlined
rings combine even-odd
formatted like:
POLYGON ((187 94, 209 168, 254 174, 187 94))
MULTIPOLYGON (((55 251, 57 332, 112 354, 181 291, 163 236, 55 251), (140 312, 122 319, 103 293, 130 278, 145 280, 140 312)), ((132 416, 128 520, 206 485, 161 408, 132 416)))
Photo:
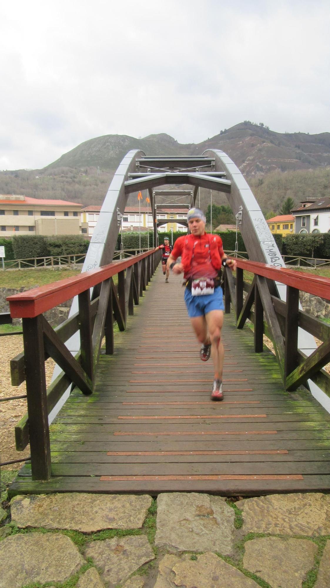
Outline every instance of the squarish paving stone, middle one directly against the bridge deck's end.
POLYGON ((196 492, 160 494, 155 543, 171 552, 234 549, 234 510, 221 496, 196 492))

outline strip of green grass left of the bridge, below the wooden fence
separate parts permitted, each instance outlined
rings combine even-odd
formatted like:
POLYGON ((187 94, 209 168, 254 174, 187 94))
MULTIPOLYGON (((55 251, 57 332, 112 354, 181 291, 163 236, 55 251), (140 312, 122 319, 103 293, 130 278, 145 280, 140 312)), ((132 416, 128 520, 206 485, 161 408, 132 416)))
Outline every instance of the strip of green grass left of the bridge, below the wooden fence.
POLYGON ((79 269, 13 269, 1 273, 1 288, 33 288, 71 278, 79 269))

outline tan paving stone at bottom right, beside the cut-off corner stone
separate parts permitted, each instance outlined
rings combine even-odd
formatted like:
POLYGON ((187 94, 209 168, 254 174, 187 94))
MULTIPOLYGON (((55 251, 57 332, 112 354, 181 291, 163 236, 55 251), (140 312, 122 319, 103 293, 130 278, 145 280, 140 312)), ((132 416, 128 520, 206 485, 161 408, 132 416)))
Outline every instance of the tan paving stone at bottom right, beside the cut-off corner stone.
POLYGON ((307 539, 260 537, 245 543, 243 564, 272 588, 301 588, 317 550, 307 539))

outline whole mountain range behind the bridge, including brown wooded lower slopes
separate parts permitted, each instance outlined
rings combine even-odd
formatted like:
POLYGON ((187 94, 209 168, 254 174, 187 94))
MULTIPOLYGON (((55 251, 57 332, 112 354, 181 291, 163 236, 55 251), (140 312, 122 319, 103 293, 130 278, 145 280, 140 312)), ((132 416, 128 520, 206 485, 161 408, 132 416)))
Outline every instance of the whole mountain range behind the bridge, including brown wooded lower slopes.
MULTIPOLYGON (((223 149, 233 159, 264 211, 277 213, 288 196, 298 203, 308 195, 329 195, 330 133, 277 133, 250 121, 196 144, 178 143, 166 133, 89 139, 41 170, 0 172, 0 193, 100 205, 130 149, 141 149, 146 155, 184 156, 211 148, 223 149)), ((208 198, 208 192, 201 191, 201 204, 208 203, 208 198)), ((222 203, 227 201, 219 195, 217 204, 222 203)))

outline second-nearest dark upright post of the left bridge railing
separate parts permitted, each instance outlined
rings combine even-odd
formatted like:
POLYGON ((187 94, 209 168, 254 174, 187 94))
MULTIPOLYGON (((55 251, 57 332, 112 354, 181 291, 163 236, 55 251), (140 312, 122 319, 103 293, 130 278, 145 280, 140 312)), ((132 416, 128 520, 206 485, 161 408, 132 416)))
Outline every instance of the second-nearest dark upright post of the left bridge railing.
POLYGON ((92 318, 90 316, 90 292, 89 289, 78 294, 79 306, 79 330, 80 330, 80 352, 82 369, 90 379, 93 387, 93 344, 92 344, 92 318))

